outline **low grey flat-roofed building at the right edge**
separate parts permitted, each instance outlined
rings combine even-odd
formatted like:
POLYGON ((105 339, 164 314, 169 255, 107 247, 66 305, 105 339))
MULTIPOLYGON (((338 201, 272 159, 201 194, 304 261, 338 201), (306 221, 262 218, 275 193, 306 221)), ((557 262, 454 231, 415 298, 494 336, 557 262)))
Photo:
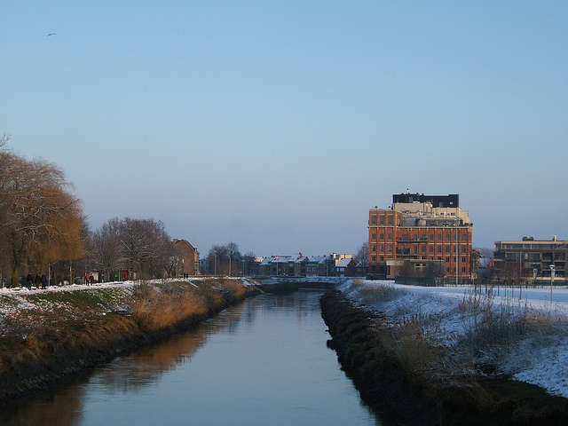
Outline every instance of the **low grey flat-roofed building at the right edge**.
POLYGON ((556 236, 552 240, 495 241, 493 249, 493 267, 501 278, 549 280, 554 269, 555 278, 566 279, 568 241, 558 241, 556 236))

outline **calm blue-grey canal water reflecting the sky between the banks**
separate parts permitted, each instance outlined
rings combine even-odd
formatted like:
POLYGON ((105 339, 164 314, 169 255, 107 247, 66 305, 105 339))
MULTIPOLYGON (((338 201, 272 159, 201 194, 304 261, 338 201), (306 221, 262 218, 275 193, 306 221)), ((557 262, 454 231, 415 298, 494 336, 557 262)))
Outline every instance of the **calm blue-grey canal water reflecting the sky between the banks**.
POLYGON ((0 414, 0 424, 379 425, 327 348, 320 292, 263 295, 0 414))

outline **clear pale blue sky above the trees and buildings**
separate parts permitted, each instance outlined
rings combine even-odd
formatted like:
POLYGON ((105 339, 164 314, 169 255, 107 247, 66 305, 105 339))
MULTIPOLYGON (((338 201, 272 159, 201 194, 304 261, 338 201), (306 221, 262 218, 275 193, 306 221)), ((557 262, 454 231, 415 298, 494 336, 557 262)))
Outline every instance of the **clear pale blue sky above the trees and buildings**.
POLYGON ((96 229, 352 253, 393 193, 568 239, 568 2, 0 4, 0 134, 96 229), (56 33, 55 36, 47 36, 56 33))

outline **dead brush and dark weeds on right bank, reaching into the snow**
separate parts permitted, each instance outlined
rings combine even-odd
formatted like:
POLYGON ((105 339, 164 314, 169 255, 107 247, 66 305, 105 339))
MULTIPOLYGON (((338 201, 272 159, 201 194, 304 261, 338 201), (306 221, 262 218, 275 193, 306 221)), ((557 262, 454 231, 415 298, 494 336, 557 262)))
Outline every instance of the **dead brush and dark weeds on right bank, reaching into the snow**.
POLYGON ((400 424, 565 424, 564 398, 511 381, 480 362, 480 354, 484 362, 507 356, 528 333, 546 338, 557 319, 529 310, 517 315, 512 307, 494 311, 489 300, 472 295, 460 306, 462 320, 471 322, 469 332, 448 346, 441 344, 446 330, 439 317, 419 309, 400 309, 391 317, 382 312, 377 301, 390 303, 397 291, 359 288, 358 300, 372 299, 373 312, 336 291, 321 300, 332 335, 328 344, 367 404, 400 424))

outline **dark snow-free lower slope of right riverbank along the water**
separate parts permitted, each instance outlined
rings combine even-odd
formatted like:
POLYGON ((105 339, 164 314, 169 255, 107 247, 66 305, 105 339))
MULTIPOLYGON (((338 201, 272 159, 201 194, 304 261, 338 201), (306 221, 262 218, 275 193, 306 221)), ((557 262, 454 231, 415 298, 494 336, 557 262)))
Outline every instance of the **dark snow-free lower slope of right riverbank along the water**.
POLYGON ((498 366, 466 365, 459 346, 450 350, 436 343, 436 334, 445 330, 432 315, 415 306, 414 312, 400 311, 394 318, 384 307, 399 296, 391 288, 361 290, 358 301, 341 291, 328 291, 321 299, 322 316, 332 336, 328 345, 337 351, 344 371, 366 403, 387 421, 406 425, 568 421, 568 399, 511 380, 498 366), (366 307, 363 296, 374 301, 374 309, 366 307), (383 309, 378 302, 383 302, 383 309), (422 327, 426 323, 434 327, 422 327))

